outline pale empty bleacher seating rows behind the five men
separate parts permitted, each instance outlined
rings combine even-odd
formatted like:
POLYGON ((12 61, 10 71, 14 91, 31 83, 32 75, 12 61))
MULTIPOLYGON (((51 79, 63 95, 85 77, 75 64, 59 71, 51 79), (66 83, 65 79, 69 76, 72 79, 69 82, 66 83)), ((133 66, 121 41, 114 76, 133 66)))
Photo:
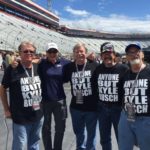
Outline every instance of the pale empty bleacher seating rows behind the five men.
POLYGON ((140 43, 143 48, 150 46, 149 39, 98 39, 77 36, 67 36, 59 32, 41 27, 37 24, 19 19, 15 16, 0 12, 0 50, 17 50, 21 41, 32 41, 35 43, 38 52, 45 50, 48 42, 56 42, 61 53, 72 53, 73 46, 78 42, 86 44, 89 51, 99 52, 103 42, 110 41, 115 45, 117 52, 123 53, 129 43, 140 43))

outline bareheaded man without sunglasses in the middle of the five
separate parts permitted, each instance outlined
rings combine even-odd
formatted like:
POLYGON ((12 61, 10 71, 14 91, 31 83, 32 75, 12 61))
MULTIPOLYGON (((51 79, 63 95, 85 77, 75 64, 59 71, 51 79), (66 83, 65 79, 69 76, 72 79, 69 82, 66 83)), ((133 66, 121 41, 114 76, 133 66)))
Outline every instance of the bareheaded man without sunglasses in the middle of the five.
POLYGON ((95 150, 97 100, 92 94, 91 77, 97 63, 86 59, 87 48, 83 43, 74 46, 73 54, 75 61, 64 67, 64 80, 71 84, 70 113, 76 135, 76 150, 95 150))

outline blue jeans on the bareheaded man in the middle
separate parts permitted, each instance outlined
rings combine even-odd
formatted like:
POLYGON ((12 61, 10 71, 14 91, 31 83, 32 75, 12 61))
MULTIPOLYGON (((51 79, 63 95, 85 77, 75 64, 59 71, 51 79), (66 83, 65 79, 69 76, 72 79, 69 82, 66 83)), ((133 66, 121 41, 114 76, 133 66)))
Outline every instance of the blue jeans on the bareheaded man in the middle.
POLYGON ((70 113, 76 135, 76 150, 95 150, 96 112, 85 112, 70 108, 70 113), (87 139, 85 130, 87 131, 87 139))

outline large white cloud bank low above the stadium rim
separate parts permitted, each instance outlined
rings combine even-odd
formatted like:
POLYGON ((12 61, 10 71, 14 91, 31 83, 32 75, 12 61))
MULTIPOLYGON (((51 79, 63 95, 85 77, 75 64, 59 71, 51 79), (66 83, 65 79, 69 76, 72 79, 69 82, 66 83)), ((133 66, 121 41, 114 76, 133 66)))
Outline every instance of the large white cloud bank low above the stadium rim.
POLYGON ((102 17, 89 13, 87 18, 74 20, 62 18, 60 24, 77 29, 90 29, 101 32, 150 33, 150 15, 147 15, 144 20, 138 20, 124 15, 111 14, 109 17, 102 17))

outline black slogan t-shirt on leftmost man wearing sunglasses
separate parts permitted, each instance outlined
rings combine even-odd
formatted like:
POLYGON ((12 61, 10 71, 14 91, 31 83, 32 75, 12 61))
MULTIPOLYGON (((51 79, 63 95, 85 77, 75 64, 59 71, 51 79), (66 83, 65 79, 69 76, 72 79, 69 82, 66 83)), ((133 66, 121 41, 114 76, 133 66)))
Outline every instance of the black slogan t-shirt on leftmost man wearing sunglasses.
POLYGON ((11 66, 6 69, 2 85, 9 88, 10 111, 15 123, 26 124, 41 119, 40 84, 37 64, 33 64, 33 70, 25 69, 21 64, 15 69, 11 66), (31 72, 34 72, 33 78, 31 72))

